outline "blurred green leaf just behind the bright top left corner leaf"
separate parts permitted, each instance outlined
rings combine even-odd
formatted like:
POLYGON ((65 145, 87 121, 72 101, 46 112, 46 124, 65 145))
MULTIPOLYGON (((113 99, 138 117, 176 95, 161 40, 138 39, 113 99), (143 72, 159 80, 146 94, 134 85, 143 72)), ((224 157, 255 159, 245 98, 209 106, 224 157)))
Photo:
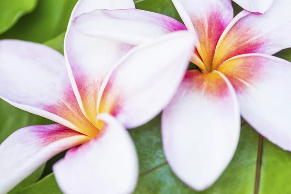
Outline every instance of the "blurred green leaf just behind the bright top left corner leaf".
POLYGON ((65 32, 77 1, 40 0, 34 12, 21 17, 13 28, 0 35, 0 39, 20 39, 37 43, 48 41, 65 32))

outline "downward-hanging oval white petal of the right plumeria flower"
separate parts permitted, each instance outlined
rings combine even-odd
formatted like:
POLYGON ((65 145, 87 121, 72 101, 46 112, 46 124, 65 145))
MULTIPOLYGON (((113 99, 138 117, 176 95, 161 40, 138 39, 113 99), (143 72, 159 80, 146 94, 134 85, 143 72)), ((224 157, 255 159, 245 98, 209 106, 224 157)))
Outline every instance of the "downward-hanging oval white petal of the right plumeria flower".
POLYGON ((188 70, 162 113, 162 144, 174 173, 201 191, 231 161, 240 135, 239 104, 226 77, 188 70))

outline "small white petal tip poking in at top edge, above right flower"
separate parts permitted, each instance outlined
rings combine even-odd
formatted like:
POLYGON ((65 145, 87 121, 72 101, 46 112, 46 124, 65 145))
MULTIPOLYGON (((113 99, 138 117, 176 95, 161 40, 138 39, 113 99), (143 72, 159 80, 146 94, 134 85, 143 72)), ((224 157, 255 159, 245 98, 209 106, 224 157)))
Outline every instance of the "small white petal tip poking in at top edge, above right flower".
POLYGON ((273 0, 233 0, 243 9, 255 15, 264 14, 272 5, 273 0))

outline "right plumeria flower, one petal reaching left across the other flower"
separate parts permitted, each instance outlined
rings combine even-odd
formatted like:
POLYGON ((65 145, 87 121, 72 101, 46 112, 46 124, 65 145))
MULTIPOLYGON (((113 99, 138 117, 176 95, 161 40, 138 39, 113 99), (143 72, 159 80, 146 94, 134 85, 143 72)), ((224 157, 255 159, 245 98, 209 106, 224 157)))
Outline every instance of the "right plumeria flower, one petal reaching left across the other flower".
POLYGON ((199 70, 186 72, 163 111, 162 141, 176 175, 195 190, 204 190, 235 153, 240 115, 268 140, 291 151, 291 63, 272 56, 291 47, 291 3, 276 0, 263 15, 243 10, 234 18, 230 0, 173 3, 185 26, 135 9, 95 10, 74 24, 83 34, 130 45, 174 30, 197 33, 191 62, 199 70))

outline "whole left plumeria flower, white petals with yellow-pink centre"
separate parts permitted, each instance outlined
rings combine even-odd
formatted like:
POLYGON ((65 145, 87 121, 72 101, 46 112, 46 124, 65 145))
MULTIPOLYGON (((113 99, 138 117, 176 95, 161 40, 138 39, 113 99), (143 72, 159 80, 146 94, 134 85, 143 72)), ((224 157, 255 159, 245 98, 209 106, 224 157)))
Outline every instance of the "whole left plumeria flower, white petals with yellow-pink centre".
POLYGON ((128 0, 94 3, 81 0, 74 9, 65 58, 44 45, 0 41, 0 97, 58 123, 19 129, 0 145, 1 194, 71 147, 53 165, 65 194, 134 190, 138 160, 125 128, 146 123, 169 103, 187 69, 195 35, 174 32, 133 48, 78 34, 71 22, 94 6, 134 8, 128 0))

